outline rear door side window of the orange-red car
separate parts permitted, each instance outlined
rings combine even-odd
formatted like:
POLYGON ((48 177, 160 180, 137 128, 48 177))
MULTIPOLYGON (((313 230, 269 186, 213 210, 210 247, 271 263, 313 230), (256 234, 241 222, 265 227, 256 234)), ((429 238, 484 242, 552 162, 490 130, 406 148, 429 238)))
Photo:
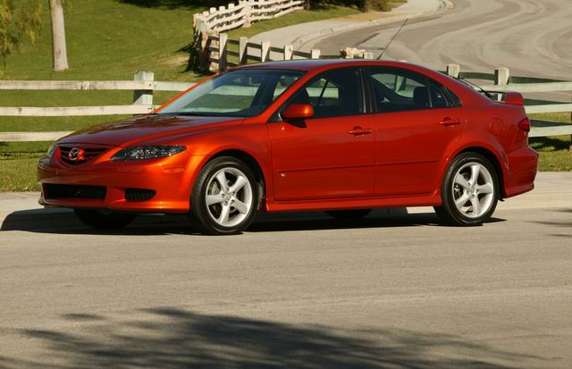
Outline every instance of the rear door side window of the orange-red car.
POLYGON ((458 106, 450 91, 425 76, 400 69, 373 69, 370 73, 378 113, 458 106))

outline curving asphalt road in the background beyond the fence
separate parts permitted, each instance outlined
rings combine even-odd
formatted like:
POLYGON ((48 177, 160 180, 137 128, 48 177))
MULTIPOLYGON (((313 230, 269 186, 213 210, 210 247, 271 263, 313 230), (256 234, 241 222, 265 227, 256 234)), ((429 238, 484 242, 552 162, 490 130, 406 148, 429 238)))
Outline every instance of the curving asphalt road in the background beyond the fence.
MULTIPOLYGON (((572 6, 569 0, 455 0, 453 10, 413 21, 384 57, 442 70, 509 67, 513 75, 572 80, 572 6)), ((357 46, 378 55, 400 25, 357 29, 315 40, 323 54, 357 46)))

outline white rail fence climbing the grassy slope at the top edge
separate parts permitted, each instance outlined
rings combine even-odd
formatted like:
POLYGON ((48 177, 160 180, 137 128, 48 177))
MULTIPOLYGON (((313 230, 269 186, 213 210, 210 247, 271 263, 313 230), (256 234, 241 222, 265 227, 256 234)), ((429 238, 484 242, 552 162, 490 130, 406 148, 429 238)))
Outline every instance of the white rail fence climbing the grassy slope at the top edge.
POLYGON ((238 4, 212 7, 203 13, 193 14, 195 32, 222 32, 248 27, 253 21, 268 20, 304 8, 302 0, 245 0, 238 4))

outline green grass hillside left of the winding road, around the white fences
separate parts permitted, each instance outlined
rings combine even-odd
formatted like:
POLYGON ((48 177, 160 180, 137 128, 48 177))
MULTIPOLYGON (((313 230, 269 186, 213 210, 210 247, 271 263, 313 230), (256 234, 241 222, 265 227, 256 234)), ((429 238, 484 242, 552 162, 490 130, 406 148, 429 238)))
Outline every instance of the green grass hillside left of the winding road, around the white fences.
MULTIPOLYGON (((4 66, 0 64, 0 80, 132 80, 135 71, 154 71, 156 80, 203 78, 186 71, 189 54, 183 50, 192 42, 192 14, 206 7, 189 5, 189 2, 185 6, 129 3, 133 2, 70 2, 65 19, 70 70, 57 73, 51 71, 51 33, 46 10, 40 38, 32 45, 23 45, 20 53, 9 55, 4 66)), ((250 37, 269 29, 352 13, 358 12, 348 7, 325 5, 312 11, 258 21, 248 29, 231 30, 229 35, 231 38, 250 37)), ((161 104, 174 94, 158 92, 154 103, 161 104)), ((131 91, 0 90, 0 106, 131 103, 131 91)), ((121 116, 0 117, 0 131, 80 130, 118 118, 121 116)), ((0 191, 38 190, 36 162, 49 145, 49 142, 0 142, 0 191)))

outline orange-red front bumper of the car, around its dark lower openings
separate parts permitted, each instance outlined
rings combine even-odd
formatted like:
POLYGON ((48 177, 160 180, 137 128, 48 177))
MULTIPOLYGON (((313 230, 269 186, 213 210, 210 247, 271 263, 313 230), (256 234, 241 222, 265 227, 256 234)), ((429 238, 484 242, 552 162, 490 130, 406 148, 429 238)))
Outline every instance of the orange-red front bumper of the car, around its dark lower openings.
POLYGON ((185 152, 162 159, 132 162, 111 162, 106 156, 79 165, 65 164, 57 155, 41 158, 38 162, 38 180, 42 186, 39 203, 121 212, 189 212, 191 184, 202 156, 185 152), (61 193, 54 196, 49 193, 50 184, 102 186, 105 187, 105 197, 79 198, 61 193), (155 191, 155 195, 148 200, 132 201, 126 198, 126 189, 149 189, 155 191))

